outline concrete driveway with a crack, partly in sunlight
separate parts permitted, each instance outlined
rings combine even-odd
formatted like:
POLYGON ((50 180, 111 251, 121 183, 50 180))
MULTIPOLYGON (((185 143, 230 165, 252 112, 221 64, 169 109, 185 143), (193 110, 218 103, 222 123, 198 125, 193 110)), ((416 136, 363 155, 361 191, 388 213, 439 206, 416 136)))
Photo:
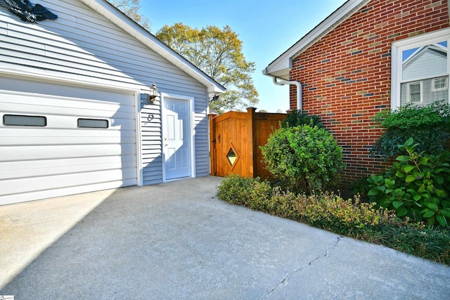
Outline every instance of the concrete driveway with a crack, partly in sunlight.
POLYGON ((220 181, 0 207, 0 295, 449 299, 449 267, 221 202, 220 181))

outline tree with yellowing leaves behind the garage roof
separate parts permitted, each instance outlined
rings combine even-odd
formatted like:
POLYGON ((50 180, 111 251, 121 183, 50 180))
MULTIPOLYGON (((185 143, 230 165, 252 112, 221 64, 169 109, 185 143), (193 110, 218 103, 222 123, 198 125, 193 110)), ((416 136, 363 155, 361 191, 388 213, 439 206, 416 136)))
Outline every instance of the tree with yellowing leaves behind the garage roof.
POLYGON ((258 103, 251 75, 255 63, 245 60, 242 41, 229 26, 220 30, 210 25, 198 30, 180 22, 165 25, 156 37, 227 89, 211 103, 212 109, 221 113, 258 103))

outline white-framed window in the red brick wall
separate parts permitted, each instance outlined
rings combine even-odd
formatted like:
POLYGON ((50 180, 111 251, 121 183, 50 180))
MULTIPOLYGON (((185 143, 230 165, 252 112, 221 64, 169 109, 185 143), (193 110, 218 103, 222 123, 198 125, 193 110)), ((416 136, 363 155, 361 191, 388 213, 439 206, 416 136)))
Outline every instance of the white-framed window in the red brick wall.
POLYGON ((450 29, 392 44, 392 110, 407 103, 449 102, 450 29))

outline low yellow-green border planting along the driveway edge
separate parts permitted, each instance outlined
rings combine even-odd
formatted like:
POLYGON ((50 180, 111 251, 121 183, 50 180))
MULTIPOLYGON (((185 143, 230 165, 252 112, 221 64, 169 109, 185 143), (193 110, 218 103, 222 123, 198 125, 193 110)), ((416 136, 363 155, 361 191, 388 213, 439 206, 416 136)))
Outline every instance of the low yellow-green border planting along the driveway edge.
POLYGON ((450 265, 450 228, 399 220, 394 211, 343 199, 333 193, 296 195, 272 188, 259 178, 227 176, 219 199, 275 216, 293 219, 358 240, 383 244, 407 254, 450 265))

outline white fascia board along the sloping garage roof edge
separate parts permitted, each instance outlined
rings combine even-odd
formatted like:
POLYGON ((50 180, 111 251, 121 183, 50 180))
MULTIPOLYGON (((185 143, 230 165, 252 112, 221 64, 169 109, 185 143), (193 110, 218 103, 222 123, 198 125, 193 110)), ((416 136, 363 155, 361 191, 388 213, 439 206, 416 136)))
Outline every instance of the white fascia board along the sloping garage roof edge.
POLYGON ((124 32, 130 34, 131 37, 141 41, 142 44, 148 46, 148 48, 158 53, 170 63, 176 65, 176 67, 179 67, 181 70, 186 72, 186 74, 207 86, 208 93, 224 93, 226 91, 224 86, 221 86, 221 84, 217 83, 217 81, 214 81, 214 79, 207 76, 207 74, 199 70, 198 67, 195 67, 195 65, 186 60, 186 58, 183 58, 183 56, 179 55, 179 53, 176 53, 172 50, 172 48, 169 48, 169 46, 162 43, 162 41, 157 39, 153 34, 150 34, 150 32, 128 18, 105 0, 79 1, 103 15, 103 17, 122 28, 124 32))

